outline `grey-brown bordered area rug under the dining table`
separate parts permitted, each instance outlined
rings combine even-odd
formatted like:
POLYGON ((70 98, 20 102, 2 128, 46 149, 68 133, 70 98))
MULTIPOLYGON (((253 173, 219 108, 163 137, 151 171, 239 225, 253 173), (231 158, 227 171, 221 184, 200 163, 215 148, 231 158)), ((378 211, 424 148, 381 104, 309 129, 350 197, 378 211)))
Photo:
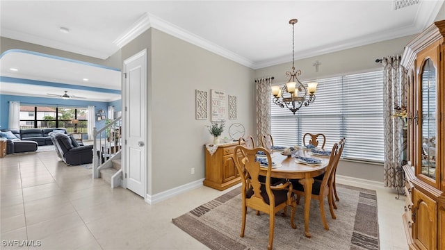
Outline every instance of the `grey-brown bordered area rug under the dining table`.
MULTIPOLYGON (((325 199, 329 231, 323 228, 317 200, 311 201, 309 232, 305 237, 304 197, 296 210, 297 229, 287 217, 275 217, 273 249, 379 249, 377 194, 374 190, 337 184, 337 219, 332 219, 325 199)), ((236 188, 173 219, 183 231, 210 249, 267 249, 269 217, 248 208, 244 238, 241 238, 241 194, 236 188)))

